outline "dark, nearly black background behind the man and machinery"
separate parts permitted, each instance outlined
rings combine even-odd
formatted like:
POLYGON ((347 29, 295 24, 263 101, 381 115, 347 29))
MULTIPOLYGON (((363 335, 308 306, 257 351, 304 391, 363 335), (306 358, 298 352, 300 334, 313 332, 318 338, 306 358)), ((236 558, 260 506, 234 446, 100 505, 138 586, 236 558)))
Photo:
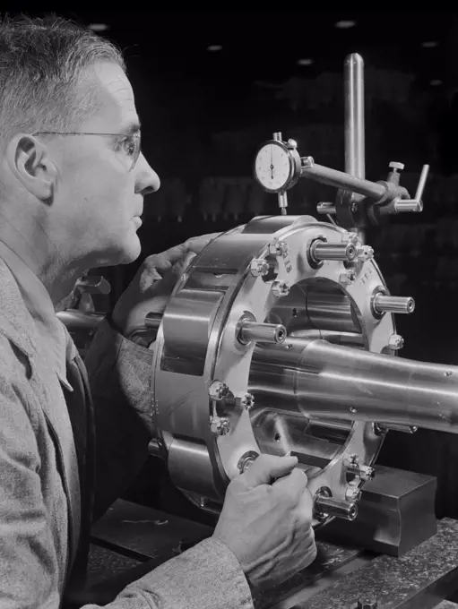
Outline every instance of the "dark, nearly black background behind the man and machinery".
MULTIPOLYGON (((101 35, 125 51, 143 152, 162 180, 145 201, 144 256, 276 213, 275 197, 256 191, 251 179, 255 150, 274 131, 296 139, 302 156, 343 169, 343 62, 351 52, 363 56, 367 178, 385 179, 388 163, 401 161, 402 184, 413 194, 422 164, 431 166, 423 213, 369 230, 367 243, 392 293, 416 301, 413 315, 397 319, 402 356, 458 365, 458 13, 59 14, 106 24, 101 35), (342 20, 354 25, 336 27, 342 20), (211 177, 216 186, 205 194, 211 177)), ((314 213, 330 196, 299 184, 289 213, 314 213)), ((103 271, 112 285, 109 306, 140 262, 103 271)), ((456 436, 389 433, 379 462, 437 476, 437 515, 458 518, 456 436)), ((151 459, 131 496, 186 509, 164 490, 166 479, 151 459)))

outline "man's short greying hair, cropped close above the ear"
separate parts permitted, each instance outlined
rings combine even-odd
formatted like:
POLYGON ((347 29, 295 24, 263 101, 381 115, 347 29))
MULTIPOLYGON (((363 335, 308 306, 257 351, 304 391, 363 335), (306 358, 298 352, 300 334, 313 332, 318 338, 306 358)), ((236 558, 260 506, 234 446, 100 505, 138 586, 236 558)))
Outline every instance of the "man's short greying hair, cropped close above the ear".
POLYGON ((95 88, 82 86, 81 77, 100 61, 125 71, 115 45, 73 21, 54 14, 0 20, 0 141, 77 130, 99 107, 95 88))

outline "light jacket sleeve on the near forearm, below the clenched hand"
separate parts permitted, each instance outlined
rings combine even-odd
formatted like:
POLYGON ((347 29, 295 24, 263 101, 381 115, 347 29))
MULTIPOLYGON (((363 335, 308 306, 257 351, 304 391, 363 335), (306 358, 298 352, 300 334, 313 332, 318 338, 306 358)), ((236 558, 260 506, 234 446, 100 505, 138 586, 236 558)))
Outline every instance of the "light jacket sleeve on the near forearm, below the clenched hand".
MULTIPOLYGON (((253 609, 251 591, 240 563, 214 537, 138 579, 134 588, 166 601, 174 609, 253 609)), ((159 606, 162 606, 160 603, 159 606)))

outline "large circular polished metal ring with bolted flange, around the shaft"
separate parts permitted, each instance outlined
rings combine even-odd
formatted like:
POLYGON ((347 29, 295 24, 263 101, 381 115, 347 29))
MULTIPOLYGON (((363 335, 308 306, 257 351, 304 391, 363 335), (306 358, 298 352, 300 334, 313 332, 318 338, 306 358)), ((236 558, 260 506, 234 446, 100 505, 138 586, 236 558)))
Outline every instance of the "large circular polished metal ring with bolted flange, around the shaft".
MULTIPOLYGON (((186 452, 183 473, 175 472, 172 480, 178 488, 206 493, 222 502, 226 485, 239 475, 238 464, 246 453, 299 452, 298 467, 307 471, 310 492, 315 494, 325 486, 332 489, 335 499, 345 501, 347 483, 343 460, 357 454, 359 463, 370 466, 376 459, 383 436, 377 435, 371 424, 354 422, 335 453, 316 465, 307 462, 307 435, 299 441, 299 446, 285 443, 284 437, 294 424, 292 427, 286 425, 285 434, 276 432, 271 439, 272 445, 267 445, 263 435, 267 428, 258 425, 257 399, 255 407, 238 407, 238 397, 253 392, 249 382, 255 352, 255 344, 240 345, 237 339, 239 321, 247 314, 256 322, 269 322, 273 313, 280 311, 282 314, 283 304, 288 307, 291 296, 279 299, 272 294, 272 281, 250 272, 254 258, 269 255, 274 237, 284 244, 281 255, 277 256, 275 279, 288 284, 295 297, 300 296, 304 286, 325 285, 341 290, 352 313, 358 316, 361 328, 358 348, 380 353, 395 333, 393 315, 375 319, 371 310, 371 295, 380 286, 385 288, 385 281, 373 259, 361 262, 355 269, 355 280, 345 286, 340 283, 340 277, 346 271, 343 262, 324 261, 317 268, 310 264, 307 257, 310 243, 320 238, 340 244, 345 234, 347 231, 341 227, 319 223, 309 217, 253 219, 243 232, 231 231, 212 241, 194 258, 186 276, 178 282, 158 333, 152 372, 157 428, 180 438, 186 437, 199 446, 195 454, 192 450, 186 452), (208 387, 214 379, 224 382, 230 390, 229 399, 225 399, 219 410, 219 416, 228 419, 230 431, 217 436, 209 429, 212 404, 208 387), (261 444, 264 450, 260 448, 261 444)), ((307 302, 303 307, 307 310, 307 302)), ((291 313, 291 319, 292 322, 285 322, 291 338, 287 337, 283 345, 275 347, 292 352, 292 343, 300 339, 300 324, 297 324, 301 312, 291 313)), ((330 339, 345 334, 319 327, 316 330, 323 338, 330 335, 330 339)), ((351 404, 348 407, 353 412, 351 404)), ((291 417, 307 421, 307 413, 298 412, 295 405, 291 405, 290 411, 286 407, 284 416, 278 415, 278 420, 281 423, 291 417)), ((172 442, 169 451, 173 450, 172 442)), ((317 524, 319 522, 315 521, 314 525, 317 524)))

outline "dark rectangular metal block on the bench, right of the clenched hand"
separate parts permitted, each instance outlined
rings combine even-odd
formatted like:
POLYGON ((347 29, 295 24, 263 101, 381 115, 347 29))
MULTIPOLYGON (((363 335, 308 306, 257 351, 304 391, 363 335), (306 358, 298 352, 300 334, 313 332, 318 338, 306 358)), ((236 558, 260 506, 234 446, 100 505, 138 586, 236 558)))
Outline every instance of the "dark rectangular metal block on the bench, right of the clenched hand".
POLYGON ((363 489, 358 518, 333 519, 318 531, 319 539, 402 556, 436 535, 435 477, 376 466, 363 489))

